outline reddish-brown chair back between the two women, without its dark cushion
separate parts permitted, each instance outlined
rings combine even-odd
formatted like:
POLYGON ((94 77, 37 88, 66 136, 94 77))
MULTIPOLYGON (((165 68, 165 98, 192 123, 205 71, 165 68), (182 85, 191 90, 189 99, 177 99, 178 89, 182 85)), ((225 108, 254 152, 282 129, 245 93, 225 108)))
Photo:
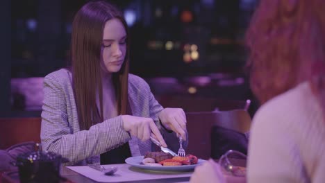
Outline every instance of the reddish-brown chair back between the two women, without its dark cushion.
MULTIPOLYGON (((189 144, 187 154, 196 155, 201 159, 215 157, 215 139, 213 130, 224 128, 240 134, 249 131, 251 117, 245 110, 214 111, 214 112, 186 112, 189 144)), ((231 143, 225 141, 225 143, 231 143)))

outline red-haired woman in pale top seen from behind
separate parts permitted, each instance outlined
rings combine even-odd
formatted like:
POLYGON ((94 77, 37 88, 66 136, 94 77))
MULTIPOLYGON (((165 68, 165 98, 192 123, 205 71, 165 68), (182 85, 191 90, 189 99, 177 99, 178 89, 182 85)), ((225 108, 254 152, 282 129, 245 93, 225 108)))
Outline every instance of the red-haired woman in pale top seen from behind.
MULTIPOLYGON (((324 10, 323 0, 263 0, 253 15, 247 66, 263 105, 253 117, 247 182, 325 180, 324 10)), ((219 168, 207 163, 192 182, 223 182, 219 168), (219 174, 203 173, 211 169, 219 174)))

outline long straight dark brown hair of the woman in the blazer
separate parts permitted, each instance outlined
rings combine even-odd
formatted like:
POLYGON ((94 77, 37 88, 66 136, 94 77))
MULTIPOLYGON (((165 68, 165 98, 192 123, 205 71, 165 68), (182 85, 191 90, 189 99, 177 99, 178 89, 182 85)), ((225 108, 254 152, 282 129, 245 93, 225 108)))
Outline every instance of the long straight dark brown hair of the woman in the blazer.
MULTIPOLYGON (((86 3, 74 17, 72 24, 72 82, 81 130, 88 130, 103 121, 103 89, 101 80, 101 45, 106 21, 119 19, 128 28, 119 10, 106 1, 86 3), (96 105, 99 95, 99 109, 96 105)), ((128 38, 127 38, 128 39, 128 38)), ((128 40, 126 57, 121 70, 113 73, 113 85, 117 98, 118 114, 126 114, 128 105, 128 40)))

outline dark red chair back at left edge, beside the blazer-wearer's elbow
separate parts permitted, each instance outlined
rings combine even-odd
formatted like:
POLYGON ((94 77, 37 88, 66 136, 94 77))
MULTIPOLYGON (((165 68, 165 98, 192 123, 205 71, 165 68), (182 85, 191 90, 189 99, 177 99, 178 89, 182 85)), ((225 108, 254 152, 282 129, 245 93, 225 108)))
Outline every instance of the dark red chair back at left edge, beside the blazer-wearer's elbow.
POLYGON ((0 149, 26 141, 40 142, 41 121, 40 117, 1 118, 0 149))

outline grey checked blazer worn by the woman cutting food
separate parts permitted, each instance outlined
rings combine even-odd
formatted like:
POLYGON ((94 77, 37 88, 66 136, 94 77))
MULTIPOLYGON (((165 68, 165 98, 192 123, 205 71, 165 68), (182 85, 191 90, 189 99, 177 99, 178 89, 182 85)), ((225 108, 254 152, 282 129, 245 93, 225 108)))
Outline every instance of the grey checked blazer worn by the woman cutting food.
MULTIPOLYGON (((176 150, 176 134, 169 133, 158 122, 163 107, 156 101, 149 85, 142 78, 129 74, 128 101, 134 116, 149 117, 156 122, 169 148, 176 150), (169 143, 170 141, 170 143, 169 143)), ((67 69, 49 73, 44 78, 42 106, 42 148, 69 159, 67 165, 85 165, 100 162, 99 155, 129 142, 133 156, 154 150, 151 141, 131 137, 122 125, 122 116, 80 130, 76 102, 72 89, 72 74, 67 69)))

